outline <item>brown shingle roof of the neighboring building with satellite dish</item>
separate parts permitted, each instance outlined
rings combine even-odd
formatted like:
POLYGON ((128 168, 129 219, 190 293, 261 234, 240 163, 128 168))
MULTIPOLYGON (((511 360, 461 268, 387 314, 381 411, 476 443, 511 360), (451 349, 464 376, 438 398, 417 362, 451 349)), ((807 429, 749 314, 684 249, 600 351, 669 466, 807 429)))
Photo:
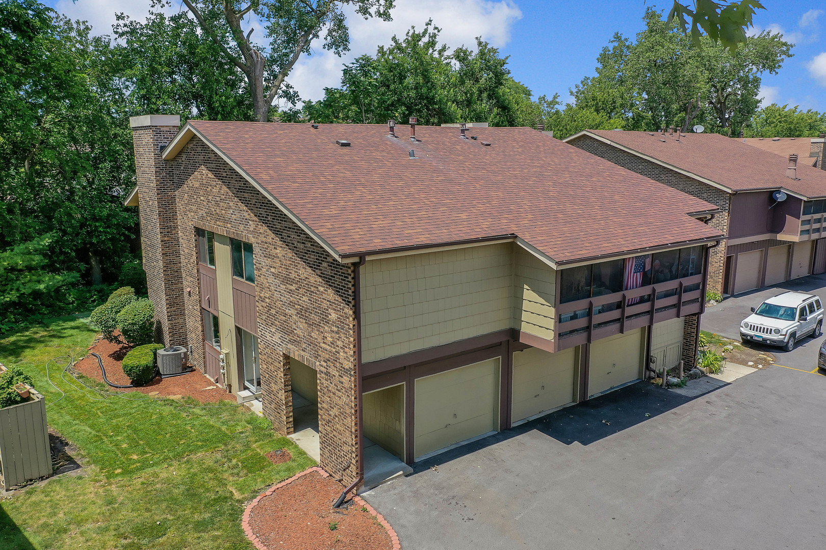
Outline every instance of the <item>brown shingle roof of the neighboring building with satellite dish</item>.
MULTIPOLYGON (((778 155, 719 134, 676 134, 587 130, 626 148, 657 158, 733 191, 780 189, 805 198, 826 196, 826 171, 798 162, 799 181, 786 177, 786 160, 778 155), (653 134, 653 135, 652 135, 653 134), (665 142, 662 142, 664 139, 665 142)), ((808 153, 803 159, 808 158, 808 153)))

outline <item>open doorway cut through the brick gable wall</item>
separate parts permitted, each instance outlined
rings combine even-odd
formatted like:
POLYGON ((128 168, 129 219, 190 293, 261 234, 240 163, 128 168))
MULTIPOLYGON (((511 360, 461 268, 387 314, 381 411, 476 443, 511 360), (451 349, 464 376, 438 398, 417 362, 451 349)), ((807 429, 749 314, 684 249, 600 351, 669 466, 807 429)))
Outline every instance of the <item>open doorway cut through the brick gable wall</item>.
POLYGON ((290 357, 292 386, 292 435, 290 439, 320 462, 318 439, 318 373, 309 365, 290 357))

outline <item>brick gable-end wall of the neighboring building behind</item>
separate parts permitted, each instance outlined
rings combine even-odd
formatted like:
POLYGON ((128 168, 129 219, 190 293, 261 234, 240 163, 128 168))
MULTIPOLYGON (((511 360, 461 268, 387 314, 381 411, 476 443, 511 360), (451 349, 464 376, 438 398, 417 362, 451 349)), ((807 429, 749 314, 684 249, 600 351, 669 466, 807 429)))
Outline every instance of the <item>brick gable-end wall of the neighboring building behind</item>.
MULTIPOLYGON (((654 181, 659 181, 683 193, 693 195, 698 199, 714 204, 720 209, 719 214, 709 223, 712 227, 719 229, 722 233, 729 234, 729 208, 731 197, 729 193, 709 186, 701 181, 697 181, 680 172, 674 172, 666 167, 662 167, 655 162, 637 157, 631 153, 626 153, 615 148, 608 143, 589 136, 582 136, 570 142, 573 146, 581 148, 597 157, 605 158, 616 165, 624 167, 632 172, 637 172, 641 176, 646 176, 654 181)), ((711 249, 708 289, 714 292, 723 293, 723 276, 725 267, 726 244, 721 242, 719 247, 711 249)))

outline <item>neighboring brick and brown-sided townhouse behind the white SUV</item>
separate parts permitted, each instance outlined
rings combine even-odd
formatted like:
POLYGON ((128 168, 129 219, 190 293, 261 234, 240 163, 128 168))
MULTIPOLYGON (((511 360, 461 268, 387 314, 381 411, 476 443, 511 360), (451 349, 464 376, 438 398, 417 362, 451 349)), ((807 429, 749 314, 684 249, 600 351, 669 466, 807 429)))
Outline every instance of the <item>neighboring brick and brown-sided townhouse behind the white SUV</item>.
POLYGON ((796 155, 719 134, 585 130, 565 142, 719 208, 710 224, 729 238, 711 252, 710 290, 826 272, 826 171, 796 155))

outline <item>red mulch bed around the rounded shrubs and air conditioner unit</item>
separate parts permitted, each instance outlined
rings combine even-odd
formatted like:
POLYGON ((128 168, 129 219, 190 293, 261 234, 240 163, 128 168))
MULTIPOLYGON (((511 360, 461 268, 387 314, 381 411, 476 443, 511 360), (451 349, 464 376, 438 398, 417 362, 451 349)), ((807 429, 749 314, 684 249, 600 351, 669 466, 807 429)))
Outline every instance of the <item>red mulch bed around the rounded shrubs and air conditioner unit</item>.
MULTIPOLYGON (((129 377, 123 373, 121 361, 129 350, 131 350, 131 346, 112 344, 100 339, 95 341, 89 352, 94 351, 97 355, 101 356, 103 368, 106 369, 106 377, 109 378, 109 382, 128 384, 130 383, 129 377)), ((88 355, 82 360, 79 360, 78 363, 74 365, 74 369, 89 378, 103 382, 101 369, 97 366, 97 359, 93 357, 93 355, 88 355)), ((208 403, 232 400, 232 396, 230 396, 229 393, 226 393, 223 388, 218 388, 214 382, 201 374, 197 369, 192 373, 183 374, 183 376, 174 376, 173 378, 160 378, 156 376, 150 383, 140 388, 110 389, 113 392, 140 392, 159 397, 188 396, 200 402, 208 403)))

